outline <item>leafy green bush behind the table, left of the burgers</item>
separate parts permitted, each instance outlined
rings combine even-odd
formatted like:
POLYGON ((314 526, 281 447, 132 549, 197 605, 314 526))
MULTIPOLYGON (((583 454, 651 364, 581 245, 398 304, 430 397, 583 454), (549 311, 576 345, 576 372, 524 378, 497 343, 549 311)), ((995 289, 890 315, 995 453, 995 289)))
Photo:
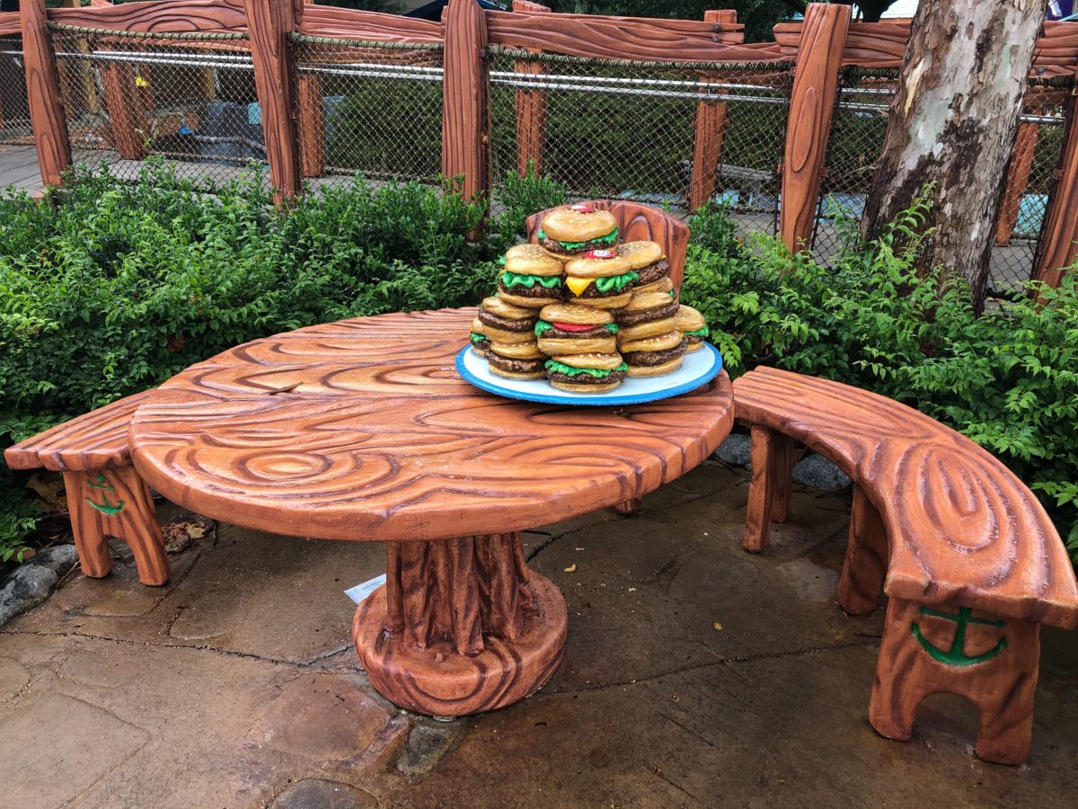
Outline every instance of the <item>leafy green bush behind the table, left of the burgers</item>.
MULTIPOLYGON (((514 178, 484 204, 417 183, 323 188, 275 209, 255 179, 208 187, 150 164, 136 183, 75 169, 45 203, 0 196, 0 444, 254 338, 359 315, 474 304, 533 206, 514 178)), ((0 466, 0 558, 33 524, 0 466)))

